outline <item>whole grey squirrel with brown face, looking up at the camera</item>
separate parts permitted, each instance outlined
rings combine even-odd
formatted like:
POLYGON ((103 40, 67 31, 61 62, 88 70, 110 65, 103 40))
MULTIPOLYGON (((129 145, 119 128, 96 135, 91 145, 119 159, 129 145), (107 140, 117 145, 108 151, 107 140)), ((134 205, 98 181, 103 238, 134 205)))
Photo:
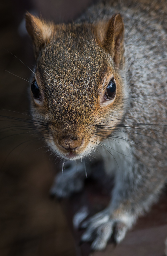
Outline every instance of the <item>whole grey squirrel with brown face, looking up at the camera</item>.
POLYGON ((25 18, 36 60, 32 118, 71 162, 53 192, 83 188, 84 168, 71 160, 102 159, 114 176, 108 207, 82 223, 81 239, 102 250, 113 232, 123 240, 167 181, 167 2, 103 1, 68 24, 25 18))

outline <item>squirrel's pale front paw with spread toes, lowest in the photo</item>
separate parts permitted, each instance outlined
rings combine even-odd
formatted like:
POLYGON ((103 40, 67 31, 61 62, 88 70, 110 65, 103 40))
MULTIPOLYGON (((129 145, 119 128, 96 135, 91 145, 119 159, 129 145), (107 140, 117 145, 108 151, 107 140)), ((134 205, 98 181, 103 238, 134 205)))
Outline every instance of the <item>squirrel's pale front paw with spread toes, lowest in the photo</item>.
POLYGON ((112 234, 115 243, 121 242, 129 229, 128 225, 121 221, 121 219, 112 219, 106 209, 84 221, 81 228, 87 228, 81 237, 81 241, 93 241, 91 245, 92 250, 105 249, 112 234))

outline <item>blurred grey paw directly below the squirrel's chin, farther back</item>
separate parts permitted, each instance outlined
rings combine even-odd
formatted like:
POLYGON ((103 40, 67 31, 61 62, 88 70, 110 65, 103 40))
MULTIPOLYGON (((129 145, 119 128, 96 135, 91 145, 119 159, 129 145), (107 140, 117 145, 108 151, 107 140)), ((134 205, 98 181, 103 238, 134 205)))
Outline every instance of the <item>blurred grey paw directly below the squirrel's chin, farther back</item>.
POLYGON ((69 197, 74 192, 79 192, 84 186, 84 169, 81 164, 68 161, 64 165, 64 172, 58 173, 50 189, 50 195, 69 197), (83 170, 83 172, 81 172, 83 170))

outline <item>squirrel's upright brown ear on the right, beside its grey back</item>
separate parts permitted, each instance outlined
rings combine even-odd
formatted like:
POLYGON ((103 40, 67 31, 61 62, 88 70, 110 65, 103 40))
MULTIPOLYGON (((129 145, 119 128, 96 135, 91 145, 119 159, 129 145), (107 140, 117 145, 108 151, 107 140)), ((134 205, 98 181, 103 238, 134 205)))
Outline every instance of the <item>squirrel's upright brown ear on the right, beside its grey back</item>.
POLYGON ((96 34, 100 44, 111 54, 116 68, 120 68, 124 53, 124 24, 121 15, 115 14, 108 22, 99 22, 96 34))

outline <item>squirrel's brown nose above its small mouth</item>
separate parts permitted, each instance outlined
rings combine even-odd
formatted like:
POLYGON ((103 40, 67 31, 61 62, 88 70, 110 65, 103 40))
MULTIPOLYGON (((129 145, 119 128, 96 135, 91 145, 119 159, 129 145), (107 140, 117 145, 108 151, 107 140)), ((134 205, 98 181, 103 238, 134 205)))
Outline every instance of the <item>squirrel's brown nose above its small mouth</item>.
POLYGON ((82 145, 83 138, 66 137, 59 140, 59 145, 66 150, 73 151, 82 145))

